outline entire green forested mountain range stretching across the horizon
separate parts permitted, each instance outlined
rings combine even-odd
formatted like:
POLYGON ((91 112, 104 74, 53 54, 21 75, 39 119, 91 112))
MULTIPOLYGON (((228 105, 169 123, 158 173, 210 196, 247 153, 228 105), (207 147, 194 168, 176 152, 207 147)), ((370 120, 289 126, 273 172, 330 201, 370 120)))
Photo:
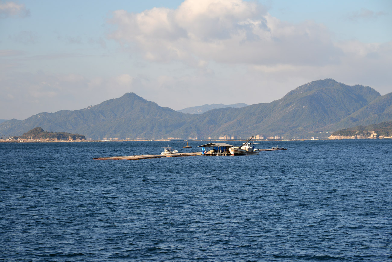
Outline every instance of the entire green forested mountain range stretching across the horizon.
POLYGON ((270 103, 185 114, 127 93, 84 109, 39 113, 0 123, 1 135, 34 127, 78 133, 87 139, 327 138, 347 127, 392 121, 392 93, 368 86, 317 80, 270 103))

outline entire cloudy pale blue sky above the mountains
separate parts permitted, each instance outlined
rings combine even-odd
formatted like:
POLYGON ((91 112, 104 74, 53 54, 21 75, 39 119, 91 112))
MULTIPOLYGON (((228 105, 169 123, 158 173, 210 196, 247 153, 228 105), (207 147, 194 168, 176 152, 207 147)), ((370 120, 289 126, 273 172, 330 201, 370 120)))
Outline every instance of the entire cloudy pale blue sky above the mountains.
POLYGON ((136 93, 180 110, 333 78, 392 92, 390 0, 0 0, 0 118, 136 93))

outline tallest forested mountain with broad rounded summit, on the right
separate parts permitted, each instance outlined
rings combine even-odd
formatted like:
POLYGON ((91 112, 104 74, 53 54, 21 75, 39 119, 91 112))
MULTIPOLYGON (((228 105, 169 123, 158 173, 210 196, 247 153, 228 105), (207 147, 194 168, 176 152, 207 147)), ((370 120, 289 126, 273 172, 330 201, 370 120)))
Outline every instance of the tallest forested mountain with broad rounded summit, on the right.
MULTIPOLYGON (((200 115, 214 120, 208 132, 214 136, 258 134, 306 137, 331 131, 326 127, 340 121, 379 97, 370 87, 347 86, 332 79, 318 80, 290 91, 271 103, 240 109, 218 109, 200 115)), ((207 135, 207 134, 203 134, 207 135)), ((325 135, 327 136, 327 135, 325 135)))

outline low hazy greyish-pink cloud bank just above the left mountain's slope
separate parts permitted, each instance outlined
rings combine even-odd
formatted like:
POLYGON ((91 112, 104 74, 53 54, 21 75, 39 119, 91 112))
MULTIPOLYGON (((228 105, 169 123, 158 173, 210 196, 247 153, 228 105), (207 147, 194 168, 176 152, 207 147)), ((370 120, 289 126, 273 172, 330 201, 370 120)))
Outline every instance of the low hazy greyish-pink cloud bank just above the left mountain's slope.
POLYGON ((0 82, 3 94, 0 96, 1 113, 13 117, 19 115, 19 119, 40 112, 82 109, 135 92, 133 78, 127 74, 113 78, 86 78, 80 74, 17 72, 1 77, 0 82))

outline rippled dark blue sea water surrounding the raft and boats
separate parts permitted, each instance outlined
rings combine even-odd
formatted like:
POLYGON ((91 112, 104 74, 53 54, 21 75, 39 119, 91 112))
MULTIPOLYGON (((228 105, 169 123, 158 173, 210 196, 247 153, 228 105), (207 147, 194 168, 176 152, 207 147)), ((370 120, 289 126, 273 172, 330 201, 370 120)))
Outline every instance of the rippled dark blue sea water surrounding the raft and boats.
POLYGON ((0 143, 0 261, 392 260, 392 140, 93 160, 201 144, 0 143))

